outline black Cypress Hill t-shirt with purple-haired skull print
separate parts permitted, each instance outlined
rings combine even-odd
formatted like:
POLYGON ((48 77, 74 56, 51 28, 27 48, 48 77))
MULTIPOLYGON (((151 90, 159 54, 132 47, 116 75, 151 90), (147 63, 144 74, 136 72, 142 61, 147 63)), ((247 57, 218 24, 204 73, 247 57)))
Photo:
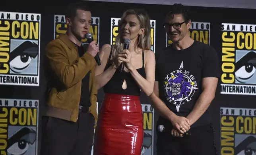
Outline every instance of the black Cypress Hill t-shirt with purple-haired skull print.
MULTIPOLYGON (((155 81, 159 98, 176 115, 186 117, 202 93, 202 78, 218 77, 217 52, 204 43, 194 43, 183 50, 169 45, 156 54, 155 81)), ((211 122, 207 110, 191 127, 211 122)))

